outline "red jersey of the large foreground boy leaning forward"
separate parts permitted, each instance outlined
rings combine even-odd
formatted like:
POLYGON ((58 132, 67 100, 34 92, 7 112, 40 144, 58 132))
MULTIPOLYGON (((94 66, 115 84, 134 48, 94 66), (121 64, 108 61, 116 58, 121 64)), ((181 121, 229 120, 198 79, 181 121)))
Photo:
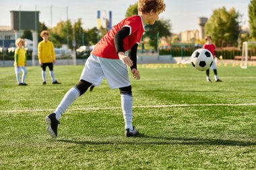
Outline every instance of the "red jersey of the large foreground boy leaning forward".
POLYGON ((119 59, 115 46, 115 35, 122 28, 129 28, 129 35, 123 39, 123 50, 130 50, 135 44, 139 44, 145 31, 142 18, 139 15, 127 17, 114 26, 92 50, 91 54, 102 58, 119 59))

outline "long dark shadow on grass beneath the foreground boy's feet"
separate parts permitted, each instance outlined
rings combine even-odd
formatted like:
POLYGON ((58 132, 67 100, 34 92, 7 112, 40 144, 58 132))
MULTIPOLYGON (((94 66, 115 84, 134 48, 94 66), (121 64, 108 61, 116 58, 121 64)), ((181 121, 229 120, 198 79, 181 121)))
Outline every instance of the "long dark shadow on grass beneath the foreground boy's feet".
POLYGON ((241 140, 224 140, 224 139, 210 139, 210 138, 175 138, 175 137, 162 137, 162 136, 146 136, 139 134, 135 137, 141 141, 77 141, 77 140, 57 140, 59 142, 75 143, 75 144, 184 144, 184 145, 212 145, 212 146, 256 146, 256 142, 241 141, 241 140), (146 139, 146 140, 143 140, 146 139), (154 141, 155 140, 155 141, 154 141))

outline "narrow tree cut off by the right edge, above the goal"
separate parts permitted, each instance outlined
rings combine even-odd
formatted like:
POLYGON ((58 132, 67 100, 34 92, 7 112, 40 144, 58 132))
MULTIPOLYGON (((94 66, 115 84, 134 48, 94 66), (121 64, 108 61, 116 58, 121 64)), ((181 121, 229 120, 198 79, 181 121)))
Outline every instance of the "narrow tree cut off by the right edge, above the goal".
POLYGON ((248 7, 250 37, 256 40, 256 0, 251 0, 248 7))

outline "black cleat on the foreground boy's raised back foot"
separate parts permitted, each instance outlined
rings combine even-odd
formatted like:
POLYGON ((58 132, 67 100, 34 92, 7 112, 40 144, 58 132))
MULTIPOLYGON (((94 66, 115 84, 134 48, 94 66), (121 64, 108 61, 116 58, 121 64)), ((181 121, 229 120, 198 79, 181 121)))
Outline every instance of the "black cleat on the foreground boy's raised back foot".
POLYGON ((56 114, 49 114, 45 117, 46 130, 53 137, 57 138, 57 130, 59 121, 56 119, 56 114))

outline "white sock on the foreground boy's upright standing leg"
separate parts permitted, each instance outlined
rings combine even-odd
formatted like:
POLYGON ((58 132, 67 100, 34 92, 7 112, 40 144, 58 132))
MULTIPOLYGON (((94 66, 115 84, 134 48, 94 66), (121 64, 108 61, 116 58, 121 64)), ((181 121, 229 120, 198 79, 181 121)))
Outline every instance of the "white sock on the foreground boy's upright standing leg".
POLYGON ((121 105, 123 118, 125 119, 125 129, 133 130, 133 97, 127 94, 121 94, 121 105))

